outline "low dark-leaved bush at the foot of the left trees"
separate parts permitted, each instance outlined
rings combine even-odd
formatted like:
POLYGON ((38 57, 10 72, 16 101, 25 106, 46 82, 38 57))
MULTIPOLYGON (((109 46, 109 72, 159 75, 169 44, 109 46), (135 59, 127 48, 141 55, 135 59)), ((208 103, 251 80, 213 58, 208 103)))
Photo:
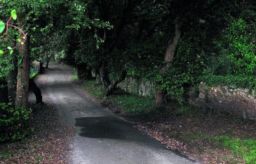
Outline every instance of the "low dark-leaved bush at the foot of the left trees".
POLYGON ((0 103, 0 142, 24 139, 30 133, 28 120, 31 109, 14 109, 0 103))

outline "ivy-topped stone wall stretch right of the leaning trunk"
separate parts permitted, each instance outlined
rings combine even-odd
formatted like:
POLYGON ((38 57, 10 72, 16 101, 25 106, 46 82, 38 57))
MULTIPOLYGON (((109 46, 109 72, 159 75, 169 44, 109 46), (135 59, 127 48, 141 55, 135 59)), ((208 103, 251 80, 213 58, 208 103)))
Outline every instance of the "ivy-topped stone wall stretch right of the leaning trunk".
POLYGON ((201 82, 198 86, 189 89, 187 102, 194 106, 212 108, 256 120, 256 92, 249 92, 248 89, 209 87, 201 82))

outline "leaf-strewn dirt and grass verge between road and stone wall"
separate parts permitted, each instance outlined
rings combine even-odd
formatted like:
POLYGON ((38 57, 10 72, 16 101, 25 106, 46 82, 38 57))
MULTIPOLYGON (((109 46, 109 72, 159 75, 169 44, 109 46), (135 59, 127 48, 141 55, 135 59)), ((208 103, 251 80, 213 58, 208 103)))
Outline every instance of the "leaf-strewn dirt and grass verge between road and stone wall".
MULTIPOLYGON (((88 92, 83 82, 71 80, 74 87, 112 112, 127 118, 134 127, 161 142, 206 164, 255 164, 256 123, 229 114, 180 106, 171 103, 165 111, 148 114, 127 113, 127 110, 88 92)), ((91 86, 97 91, 97 86, 91 86)), ((123 93, 122 93, 123 94, 123 93)), ((122 96, 120 94, 119 96, 122 96)))

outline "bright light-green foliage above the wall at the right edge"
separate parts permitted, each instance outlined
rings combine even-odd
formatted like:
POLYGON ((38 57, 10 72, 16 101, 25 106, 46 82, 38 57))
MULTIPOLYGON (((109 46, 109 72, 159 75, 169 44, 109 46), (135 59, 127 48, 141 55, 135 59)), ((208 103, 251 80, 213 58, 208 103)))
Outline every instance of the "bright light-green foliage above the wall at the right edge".
POLYGON ((256 39, 250 28, 254 27, 249 27, 241 18, 231 18, 222 38, 216 42, 220 52, 235 64, 233 69, 236 74, 251 75, 255 72, 256 39))

